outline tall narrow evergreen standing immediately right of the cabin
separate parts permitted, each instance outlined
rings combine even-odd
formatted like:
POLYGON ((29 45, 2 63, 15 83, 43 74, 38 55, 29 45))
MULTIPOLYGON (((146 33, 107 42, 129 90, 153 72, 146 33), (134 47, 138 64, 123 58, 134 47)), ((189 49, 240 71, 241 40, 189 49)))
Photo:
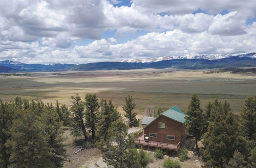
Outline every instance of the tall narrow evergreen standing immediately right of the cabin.
POLYGON ((205 119, 203 116, 203 110, 200 107, 200 100, 197 94, 193 94, 188 106, 188 111, 186 113, 186 128, 189 134, 195 136, 196 148, 198 150, 198 141, 201 140, 203 135, 203 130, 205 126, 205 119))

